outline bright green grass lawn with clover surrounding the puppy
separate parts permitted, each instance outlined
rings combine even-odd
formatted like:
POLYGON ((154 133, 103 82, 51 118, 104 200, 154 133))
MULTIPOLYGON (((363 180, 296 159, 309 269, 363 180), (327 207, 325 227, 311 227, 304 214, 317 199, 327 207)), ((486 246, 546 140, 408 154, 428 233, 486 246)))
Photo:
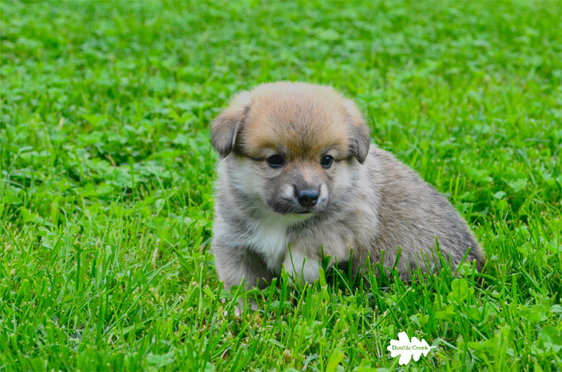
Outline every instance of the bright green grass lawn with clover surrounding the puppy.
POLYGON ((0 10, 0 371, 562 370, 559 1, 0 10), (222 289, 209 121, 279 79, 355 98, 469 221, 482 286, 222 289), (437 348, 399 366, 400 331, 437 348))

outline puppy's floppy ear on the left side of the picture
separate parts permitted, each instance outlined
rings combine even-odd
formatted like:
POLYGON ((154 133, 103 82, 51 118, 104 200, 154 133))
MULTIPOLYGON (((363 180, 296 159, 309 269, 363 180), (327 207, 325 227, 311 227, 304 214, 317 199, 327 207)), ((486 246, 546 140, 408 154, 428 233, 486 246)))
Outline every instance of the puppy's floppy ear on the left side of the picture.
POLYGON ((244 91, 231 100, 230 105, 213 120, 211 142, 221 159, 233 150, 236 136, 247 117, 250 105, 251 94, 244 91))

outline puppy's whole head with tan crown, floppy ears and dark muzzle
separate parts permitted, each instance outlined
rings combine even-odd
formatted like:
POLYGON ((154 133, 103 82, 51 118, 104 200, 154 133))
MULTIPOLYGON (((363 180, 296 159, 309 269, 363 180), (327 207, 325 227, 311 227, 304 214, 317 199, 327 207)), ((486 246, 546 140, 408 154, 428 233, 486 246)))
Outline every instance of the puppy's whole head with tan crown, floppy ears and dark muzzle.
POLYGON ((353 187, 369 128, 351 100, 301 83, 262 84, 235 97, 211 138, 231 187, 280 214, 327 211, 353 187))

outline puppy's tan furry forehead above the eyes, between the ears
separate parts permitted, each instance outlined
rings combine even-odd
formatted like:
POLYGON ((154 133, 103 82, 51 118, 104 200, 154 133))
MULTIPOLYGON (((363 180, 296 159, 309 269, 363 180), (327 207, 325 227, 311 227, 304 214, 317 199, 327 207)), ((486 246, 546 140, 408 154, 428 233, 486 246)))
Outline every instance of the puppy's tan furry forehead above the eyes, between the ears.
POLYGON ((324 86, 260 86, 252 91, 242 146, 255 157, 268 149, 285 151, 289 157, 318 157, 329 149, 344 156, 348 149, 344 99, 324 86))

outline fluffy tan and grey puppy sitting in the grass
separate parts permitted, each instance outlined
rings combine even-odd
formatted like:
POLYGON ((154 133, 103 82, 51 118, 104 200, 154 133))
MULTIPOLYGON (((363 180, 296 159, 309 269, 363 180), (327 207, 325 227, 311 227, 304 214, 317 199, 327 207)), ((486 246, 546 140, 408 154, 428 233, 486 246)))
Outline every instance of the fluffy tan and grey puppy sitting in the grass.
POLYGON ((440 267, 436 237, 453 266, 469 250, 481 270, 481 247, 455 208, 369 133, 353 101, 327 86, 262 84, 218 115, 211 245, 225 288, 263 288, 284 267, 312 283, 322 254, 357 274, 384 249, 384 267, 393 267, 398 248, 407 280, 417 267, 440 267))

